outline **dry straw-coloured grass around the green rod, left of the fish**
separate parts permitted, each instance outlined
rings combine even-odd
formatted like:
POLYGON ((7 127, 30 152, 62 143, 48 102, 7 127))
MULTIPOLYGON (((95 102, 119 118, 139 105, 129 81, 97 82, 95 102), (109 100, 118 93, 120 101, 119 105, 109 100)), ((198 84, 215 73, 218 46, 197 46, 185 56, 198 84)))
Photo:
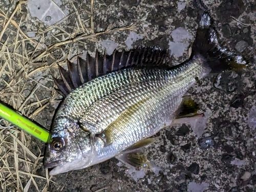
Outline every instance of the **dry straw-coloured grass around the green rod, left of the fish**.
MULTIPOLYGON (((65 25, 60 22, 54 26, 41 28, 37 30, 37 36, 40 38, 30 38, 21 29, 23 16, 19 19, 22 6, 26 6, 26 1, 19 1, 17 4, 12 2, 8 11, 0 8, 0 24, 3 25, 0 31, 0 39, 6 35, 5 40, 0 42, 0 77, 7 76, 9 80, 1 79, 4 88, 0 89, 0 99, 11 105, 23 115, 35 119, 50 104, 55 102, 58 94, 53 87, 41 83, 35 79, 35 75, 42 73, 51 74, 51 70, 56 68, 56 63, 65 65, 66 59, 71 59, 72 45, 84 43, 83 40, 92 39, 106 33, 113 33, 121 30, 132 29, 134 26, 113 28, 109 26, 104 32, 95 32, 93 22, 93 5, 91 0, 90 19, 81 20, 79 7, 75 7, 71 2, 74 12, 68 16, 76 15, 77 20, 71 33, 65 30, 65 25), (85 22, 90 22, 90 28, 84 26, 85 22), (45 48, 45 34, 52 29, 58 29, 60 33, 52 38, 55 39, 53 44, 45 48), (59 40, 61 37, 61 40, 59 40), (33 46, 29 51, 28 43, 33 46), (61 46, 65 47, 61 49, 61 46), (59 55, 56 57, 56 52, 59 55), (29 91, 29 93, 28 93, 29 91), (51 93, 49 97, 40 98, 38 95, 42 91, 51 93)), ((47 79, 47 77, 41 77, 47 79)), ((53 83, 49 77, 47 79, 53 83)), ((3 85, 2 85, 3 87, 3 85)), ((0 87, 1 88, 1 87, 0 87)), ((41 143, 42 144, 42 143, 41 143)), ((38 152, 41 152, 39 145, 38 152)), ((20 131, 16 127, 9 130, 0 130, 0 191, 31 191, 34 187, 36 191, 48 191, 50 182, 48 172, 44 176, 38 175, 36 170, 42 166, 43 154, 35 154, 31 150, 31 136, 20 131), (40 180, 40 186, 38 185, 40 180)), ((102 190, 99 189, 98 191, 102 190)))

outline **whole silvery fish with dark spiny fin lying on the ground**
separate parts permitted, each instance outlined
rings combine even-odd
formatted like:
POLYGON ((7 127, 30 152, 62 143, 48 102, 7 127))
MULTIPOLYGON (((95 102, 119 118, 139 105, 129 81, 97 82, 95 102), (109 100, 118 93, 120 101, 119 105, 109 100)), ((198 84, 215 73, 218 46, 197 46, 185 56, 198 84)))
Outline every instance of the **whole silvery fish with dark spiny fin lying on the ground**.
POLYGON ((64 99, 45 147, 44 167, 50 175, 111 158, 151 168, 142 149, 154 142, 153 136, 179 118, 198 115, 187 91, 198 79, 243 69, 247 61, 219 42, 205 10, 191 55, 179 65, 172 64, 168 50, 155 46, 112 55, 96 51, 95 58, 88 54, 67 66, 59 66, 61 78, 54 78, 64 99))

